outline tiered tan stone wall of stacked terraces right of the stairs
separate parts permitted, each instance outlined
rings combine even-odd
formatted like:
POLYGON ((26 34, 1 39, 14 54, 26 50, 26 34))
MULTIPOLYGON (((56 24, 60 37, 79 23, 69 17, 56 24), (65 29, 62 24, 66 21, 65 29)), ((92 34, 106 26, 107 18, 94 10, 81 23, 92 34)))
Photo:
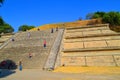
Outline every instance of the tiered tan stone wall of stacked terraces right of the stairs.
POLYGON ((61 66, 120 66, 120 33, 108 24, 66 28, 61 66))

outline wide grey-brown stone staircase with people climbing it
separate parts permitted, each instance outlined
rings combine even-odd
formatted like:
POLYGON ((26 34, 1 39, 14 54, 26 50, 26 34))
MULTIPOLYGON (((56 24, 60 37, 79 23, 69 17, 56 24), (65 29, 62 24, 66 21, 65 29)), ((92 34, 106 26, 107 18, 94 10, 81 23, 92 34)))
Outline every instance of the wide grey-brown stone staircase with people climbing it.
POLYGON ((58 32, 51 33, 51 30, 20 32, 13 37, 15 41, 9 43, 0 50, 0 61, 10 59, 16 62, 21 60, 23 68, 42 69, 49 56, 51 47, 56 39, 58 32), (30 33, 30 37, 28 37, 30 33), (47 47, 43 47, 43 41, 46 40, 47 47), (29 58, 29 53, 32 58, 29 58))

